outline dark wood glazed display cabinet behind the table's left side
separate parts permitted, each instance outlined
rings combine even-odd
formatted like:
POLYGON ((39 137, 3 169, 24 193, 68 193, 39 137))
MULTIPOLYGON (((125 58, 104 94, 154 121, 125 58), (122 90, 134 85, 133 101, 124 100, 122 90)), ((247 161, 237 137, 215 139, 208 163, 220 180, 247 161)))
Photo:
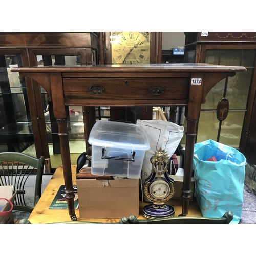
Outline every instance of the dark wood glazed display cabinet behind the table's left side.
MULTIPOLYGON (((52 101, 37 81, 11 73, 14 67, 99 63, 99 33, 0 33, 0 152, 46 158, 46 172, 61 165, 52 101), (32 106, 32 107, 31 107, 32 106)), ((74 160, 86 149, 83 117, 95 108, 67 106, 74 160)))

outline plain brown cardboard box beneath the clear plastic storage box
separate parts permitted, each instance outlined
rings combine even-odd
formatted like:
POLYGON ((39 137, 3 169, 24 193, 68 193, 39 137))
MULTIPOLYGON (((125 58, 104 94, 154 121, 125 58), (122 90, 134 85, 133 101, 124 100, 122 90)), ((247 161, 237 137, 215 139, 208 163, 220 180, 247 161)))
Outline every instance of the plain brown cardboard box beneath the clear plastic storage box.
POLYGON ((80 219, 139 216, 139 179, 77 179, 80 219))

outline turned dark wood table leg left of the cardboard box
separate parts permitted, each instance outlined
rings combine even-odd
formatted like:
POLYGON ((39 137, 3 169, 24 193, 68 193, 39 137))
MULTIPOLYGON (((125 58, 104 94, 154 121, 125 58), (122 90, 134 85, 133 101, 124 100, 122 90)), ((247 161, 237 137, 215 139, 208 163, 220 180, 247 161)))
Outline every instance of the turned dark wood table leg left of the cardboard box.
POLYGON ((57 119, 58 123, 58 135, 61 148, 61 158, 63 165, 63 176, 65 181, 65 193, 68 201, 69 215, 72 221, 77 221, 74 207, 74 189, 72 184, 72 171, 71 171, 71 160, 69 150, 69 133, 67 118, 57 119))

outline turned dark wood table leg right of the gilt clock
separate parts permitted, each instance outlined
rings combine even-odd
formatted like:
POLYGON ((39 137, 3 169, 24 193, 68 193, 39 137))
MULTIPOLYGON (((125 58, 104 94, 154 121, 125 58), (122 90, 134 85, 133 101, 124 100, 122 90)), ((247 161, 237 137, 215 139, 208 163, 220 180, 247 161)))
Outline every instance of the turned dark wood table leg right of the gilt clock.
POLYGON ((191 198, 191 176, 193 168, 193 156, 194 156, 194 145, 197 135, 197 122, 198 119, 187 120, 187 131, 186 131, 186 147, 185 147, 185 161, 184 161, 184 178, 182 188, 182 214, 179 216, 186 216, 188 214, 189 200, 191 198))

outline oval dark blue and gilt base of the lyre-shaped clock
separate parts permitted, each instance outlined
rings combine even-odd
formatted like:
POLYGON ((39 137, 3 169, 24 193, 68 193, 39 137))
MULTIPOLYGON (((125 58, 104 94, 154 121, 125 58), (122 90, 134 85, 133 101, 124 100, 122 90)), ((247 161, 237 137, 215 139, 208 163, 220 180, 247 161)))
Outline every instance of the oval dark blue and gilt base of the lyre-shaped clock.
POLYGON ((174 207, 169 204, 163 204, 163 205, 148 204, 143 208, 143 215, 149 219, 173 217, 174 214, 175 214, 174 207))

